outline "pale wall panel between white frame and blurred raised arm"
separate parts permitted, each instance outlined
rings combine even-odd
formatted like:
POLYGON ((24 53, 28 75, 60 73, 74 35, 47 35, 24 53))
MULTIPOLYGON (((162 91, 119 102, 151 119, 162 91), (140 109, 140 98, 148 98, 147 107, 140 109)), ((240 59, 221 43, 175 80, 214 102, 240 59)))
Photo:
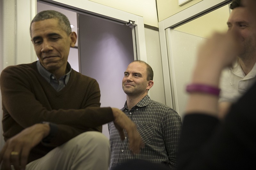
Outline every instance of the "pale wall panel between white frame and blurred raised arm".
POLYGON ((187 106, 186 86, 190 83, 197 48, 205 39, 188 33, 166 29, 173 107, 183 118, 187 106))

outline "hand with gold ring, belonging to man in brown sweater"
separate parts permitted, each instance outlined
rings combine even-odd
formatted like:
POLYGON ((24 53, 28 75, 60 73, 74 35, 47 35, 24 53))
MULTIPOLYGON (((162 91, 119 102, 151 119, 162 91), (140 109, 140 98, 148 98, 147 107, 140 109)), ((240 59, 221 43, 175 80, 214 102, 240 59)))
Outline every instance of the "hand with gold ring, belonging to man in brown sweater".
POLYGON ((49 132, 48 124, 35 124, 7 140, 0 152, 2 168, 11 170, 11 165, 13 165, 15 170, 24 170, 30 150, 39 144, 49 132))

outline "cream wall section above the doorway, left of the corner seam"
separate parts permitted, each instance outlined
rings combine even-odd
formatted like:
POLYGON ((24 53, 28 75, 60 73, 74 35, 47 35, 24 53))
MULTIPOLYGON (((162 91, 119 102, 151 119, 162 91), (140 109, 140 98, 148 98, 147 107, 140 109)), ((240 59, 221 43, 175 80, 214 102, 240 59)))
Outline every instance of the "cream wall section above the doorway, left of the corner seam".
POLYGON ((156 0, 90 0, 143 17, 144 24, 158 27, 156 0))

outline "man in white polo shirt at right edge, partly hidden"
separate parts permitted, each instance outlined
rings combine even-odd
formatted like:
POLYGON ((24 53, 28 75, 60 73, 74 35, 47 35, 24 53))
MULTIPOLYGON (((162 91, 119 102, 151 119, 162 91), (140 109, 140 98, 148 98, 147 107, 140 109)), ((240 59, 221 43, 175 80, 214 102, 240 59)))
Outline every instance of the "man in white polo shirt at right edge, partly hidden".
POLYGON ((232 67, 222 72, 220 81, 220 117, 225 117, 229 106, 236 102, 256 81, 256 1, 233 0, 228 18, 228 32, 238 32, 242 51, 232 67))

